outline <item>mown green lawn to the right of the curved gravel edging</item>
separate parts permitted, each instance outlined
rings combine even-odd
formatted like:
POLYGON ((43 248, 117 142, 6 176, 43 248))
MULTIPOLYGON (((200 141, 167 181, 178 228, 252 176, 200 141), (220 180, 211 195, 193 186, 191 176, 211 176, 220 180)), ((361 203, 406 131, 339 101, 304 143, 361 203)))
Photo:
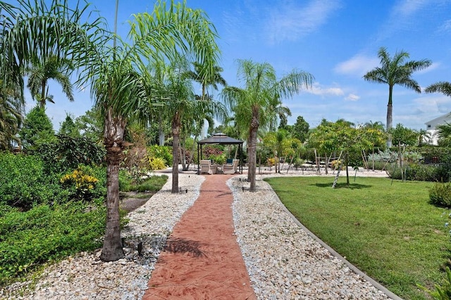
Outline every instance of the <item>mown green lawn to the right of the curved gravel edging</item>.
POLYGON ((403 299, 428 299, 451 257, 449 210, 428 203, 432 182, 387 178, 270 178, 293 215, 348 261, 403 299))

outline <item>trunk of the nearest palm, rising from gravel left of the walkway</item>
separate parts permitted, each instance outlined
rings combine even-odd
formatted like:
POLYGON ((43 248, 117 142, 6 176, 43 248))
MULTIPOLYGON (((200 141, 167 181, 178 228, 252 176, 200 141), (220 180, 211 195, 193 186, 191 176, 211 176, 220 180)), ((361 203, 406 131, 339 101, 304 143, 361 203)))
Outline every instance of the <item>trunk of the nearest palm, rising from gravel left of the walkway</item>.
POLYGON ((121 241, 121 220, 119 217, 119 164, 125 121, 113 118, 111 109, 106 113, 104 144, 106 147, 106 230, 102 261, 117 261, 125 256, 121 241))

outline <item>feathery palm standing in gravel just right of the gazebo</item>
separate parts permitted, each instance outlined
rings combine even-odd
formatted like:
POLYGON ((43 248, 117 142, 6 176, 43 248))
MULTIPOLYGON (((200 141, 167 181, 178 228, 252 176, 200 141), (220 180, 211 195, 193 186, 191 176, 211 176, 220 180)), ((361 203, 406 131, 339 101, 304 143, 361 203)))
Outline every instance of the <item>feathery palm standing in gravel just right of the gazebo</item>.
POLYGON ((221 93, 230 110, 235 112, 235 122, 239 128, 247 128, 249 141, 248 180, 250 191, 255 192, 257 166, 257 132, 271 120, 269 106, 275 98, 283 99, 300 92, 302 87, 311 87, 313 75, 292 70, 280 80, 276 70, 268 63, 254 63, 250 60, 238 61, 238 74, 245 87, 225 87, 221 93))

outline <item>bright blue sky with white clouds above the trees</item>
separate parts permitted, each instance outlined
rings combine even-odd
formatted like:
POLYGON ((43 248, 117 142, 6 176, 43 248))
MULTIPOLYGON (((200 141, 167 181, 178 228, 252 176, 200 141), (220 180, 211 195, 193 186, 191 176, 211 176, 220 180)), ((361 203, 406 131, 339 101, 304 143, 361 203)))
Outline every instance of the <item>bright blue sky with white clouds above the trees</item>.
MULTIPOLYGON (((113 27, 114 2, 92 0, 113 27)), ((120 0, 118 32, 128 32, 132 13, 152 11, 154 1, 120 0)), ((378 66, 378 49, 390 54, 404 50, 410 59, 430 59, 433 65, 414 73, 424 88, 433 82, 451 82, 451 0, 187 0, 200 8, 216 26, 221 47, 223 77, 237 82, 237 59, 273 65, 278 77, 296 68, 315 77, 311 90, 283 103, 292 111, 288 123, 302 115, 310 127, 321 119, 344 118, 353 123, 381 121, 385 124, 388 86, 366 82, 362 76, 378 66)), ((70 103, 57 85, 50 87, 56 104, 47 114, 56 129, 66 116, 82 115, 92 106, 89 92, 76 92, 70 103)), ((28 109, 32 101, 27 101, 28 109)), ((417 94, 395 86, 393 125, 416 130, 424 123, 451 111, 451 97, 417 94)))

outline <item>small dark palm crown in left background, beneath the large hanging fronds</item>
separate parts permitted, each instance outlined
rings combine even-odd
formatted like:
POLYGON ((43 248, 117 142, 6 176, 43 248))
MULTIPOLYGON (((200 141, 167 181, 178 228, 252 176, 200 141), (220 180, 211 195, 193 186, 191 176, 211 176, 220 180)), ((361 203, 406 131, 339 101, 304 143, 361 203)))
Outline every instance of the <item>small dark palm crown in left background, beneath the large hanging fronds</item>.
POLYGON ((69 101, 73 101, 73 87, 70 83, 68 72, 73 69, 73 63, 66 58, 58 58, 51 55, 48 58, 42 58, 36 64, 28 67, 25 74, 28 75, 27 87, 30 89, 33 99, 37 99, 41 107, 44 107, 46 101, 55 103, 53 96, 49 95, 48 81, 53 79, 63 87, 63 93, 66 94, 69 101))

